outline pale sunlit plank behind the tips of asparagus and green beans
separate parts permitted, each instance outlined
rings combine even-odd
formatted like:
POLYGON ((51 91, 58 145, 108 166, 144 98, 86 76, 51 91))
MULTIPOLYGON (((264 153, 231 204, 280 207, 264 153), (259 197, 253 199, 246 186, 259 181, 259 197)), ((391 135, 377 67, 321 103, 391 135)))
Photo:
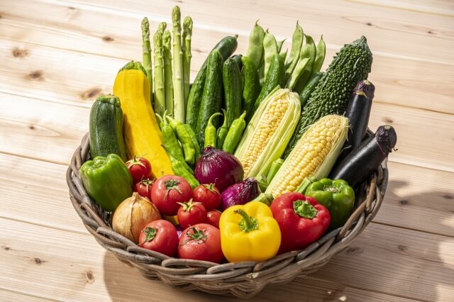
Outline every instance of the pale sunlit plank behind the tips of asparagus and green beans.
MULTIPOLYGON (((169 20, 174 2, 160 1, 143 4, 141 1, 67 1, 76 9, 91 5, 96 9, 121 11, 150 16, 157 20, 169 20)), ((392 55, 417 57, 451 64, 454 54, 450 52, 450 40, 453 39, 452 19, 447 16, 430 15, 417 11, 403 11, 392 7, 380 10, 368 4, 342 1, 286 1, 276 4, 235 0, 228 2, 194 0, 179 3, 183 16, 190 15, 196 21, 195 26, 211 26, 224 30, 236 30, 238 34, 249 33, 253 22, 260 18, 262 26, 270 28, 279 38, 289 36, 294 28, 294 21, 299 19, 307 33, 323 33, 331 41, 329 44, 343 45, 361 35, 373 37, 369 41, 372 49, 392 55), (222 9, 219 9, 219 6, 222 9), (238 7, 241 8, 238 11, 238 7), (200 21, 199 21, 200 20, 200 21), (199 23, 201 22, 201 24, 199 23), (333 26, 335 25, 335 26, 333 26), (392 35, 392 39, 389 37, 392 35), (396 43, 400 41, 400 43, 396 43), (408 47, 418 45, 418 47, 408 47), (437 49, 437 56, 432 55, 437 49)))

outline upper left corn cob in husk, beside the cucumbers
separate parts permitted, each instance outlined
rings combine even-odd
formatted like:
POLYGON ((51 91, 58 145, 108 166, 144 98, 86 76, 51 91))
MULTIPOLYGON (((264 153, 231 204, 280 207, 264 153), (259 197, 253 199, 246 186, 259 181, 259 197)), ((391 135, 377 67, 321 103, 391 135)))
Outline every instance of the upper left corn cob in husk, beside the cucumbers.
POLYGON ((275 89, 260 103, 235 152, 245 178, 267 175, 284 152, 300 112, 298 95, 289 89, 275 89))

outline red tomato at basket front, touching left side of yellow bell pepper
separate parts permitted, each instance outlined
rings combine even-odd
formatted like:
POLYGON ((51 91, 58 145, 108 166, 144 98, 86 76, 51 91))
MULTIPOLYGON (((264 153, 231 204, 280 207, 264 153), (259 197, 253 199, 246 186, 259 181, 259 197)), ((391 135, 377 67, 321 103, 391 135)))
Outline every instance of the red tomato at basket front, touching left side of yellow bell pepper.
POLYGON ((199 223, 183 231, 179 237, 177 255, 182 259, 195 259, 221 263, 221 232, 208 223, 199 223))

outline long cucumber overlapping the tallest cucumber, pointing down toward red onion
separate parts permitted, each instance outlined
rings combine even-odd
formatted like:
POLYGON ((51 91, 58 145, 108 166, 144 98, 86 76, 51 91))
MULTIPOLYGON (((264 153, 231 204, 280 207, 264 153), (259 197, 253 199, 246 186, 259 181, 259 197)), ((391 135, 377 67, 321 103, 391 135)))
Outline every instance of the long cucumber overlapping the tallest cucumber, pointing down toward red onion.
POLYGON ((210 116, 221 111, 223 98, 222 65, 221 52, 212 50, 208 56, 204 93, 201 96, 200 112, 196 126, 197 140, 199 140, 199 145, 201 146, 204 146, 205 128, 210 116))

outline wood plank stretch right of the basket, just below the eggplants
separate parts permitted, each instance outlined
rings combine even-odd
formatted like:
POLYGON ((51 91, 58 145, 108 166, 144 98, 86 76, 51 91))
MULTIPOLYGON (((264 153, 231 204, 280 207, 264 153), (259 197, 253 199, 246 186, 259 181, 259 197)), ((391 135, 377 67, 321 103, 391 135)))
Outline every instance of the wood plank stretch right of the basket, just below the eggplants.
POLYGON ((374 221, 454 237, 454 174, 388 162, 389 182, 374 221))

